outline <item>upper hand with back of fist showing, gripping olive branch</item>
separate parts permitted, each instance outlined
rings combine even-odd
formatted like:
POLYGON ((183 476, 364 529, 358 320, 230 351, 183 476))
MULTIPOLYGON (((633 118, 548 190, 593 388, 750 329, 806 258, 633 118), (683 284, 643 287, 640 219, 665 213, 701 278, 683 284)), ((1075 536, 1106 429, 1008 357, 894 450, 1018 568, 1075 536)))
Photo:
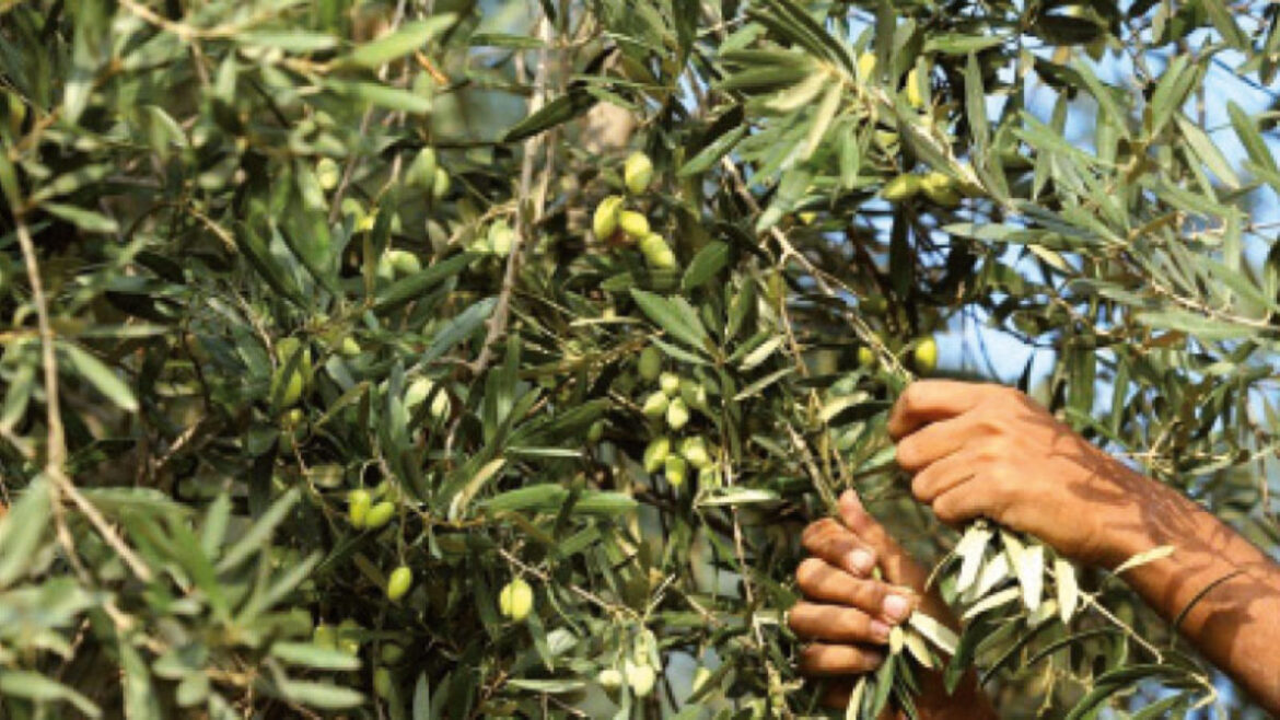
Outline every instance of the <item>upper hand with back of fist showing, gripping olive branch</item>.
POLYGON ((1002 386, 915 382, 888 432, 913 495, 940 520, 991 518, 1083 562, 1128 557, 1117 536, 1161 488, 1002 386))

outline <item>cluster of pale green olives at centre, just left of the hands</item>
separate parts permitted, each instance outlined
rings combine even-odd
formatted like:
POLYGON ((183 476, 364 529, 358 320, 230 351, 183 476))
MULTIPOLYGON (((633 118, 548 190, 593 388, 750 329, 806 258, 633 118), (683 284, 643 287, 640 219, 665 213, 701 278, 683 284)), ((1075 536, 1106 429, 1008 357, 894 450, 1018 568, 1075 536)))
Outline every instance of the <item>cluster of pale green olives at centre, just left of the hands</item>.
MULTIPOLYGON (((640 379, 658 386, 658 389, 645 397, 640 409, 650 420, 678 433, 689 424, 695 410, 708 410, 707 388, 690 378, 664 372, 663 356, 657 347, 645 347, 637 365, 640 379)), ((662 471, 672 488, 678 489, 685 484, 690 468, 698 471, 699 486, 714 487, 719 483, 713 450, 701 436, 685 437, 675 445, 669 434, 658 430, 645 447, 643 464, 646 473, 662 471)))

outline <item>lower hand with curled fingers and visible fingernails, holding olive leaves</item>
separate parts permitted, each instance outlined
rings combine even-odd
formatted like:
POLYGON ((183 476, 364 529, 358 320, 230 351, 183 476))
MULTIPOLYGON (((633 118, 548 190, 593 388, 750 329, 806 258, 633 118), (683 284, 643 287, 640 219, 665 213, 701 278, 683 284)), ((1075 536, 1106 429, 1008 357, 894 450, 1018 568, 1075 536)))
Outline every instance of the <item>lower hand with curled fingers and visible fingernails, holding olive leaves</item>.
MULTIPOLYGON (((867 512, 855 492, 846 491, 840 497, 838 520, 828 518, 812 523, 803 541, 817 557, 800 564, 796 579, 801 592, 817 602, 797 603, 790 614, 790 625, 801 638, 814 641, 801 653, 800 671, 831 678, 823 697, 826 705, 849 705, 856 676, 876 670, 884 661, 888 628, 905 621, 911 610, 919 609, 959 630, 951 609, 937 591, 928 588, 928 570, 867 512), (870 565, 864 564, 865 557, 870 559, 870 565), (879 568, 883 579, 872 579, 872 568, 879 568), (901 610, 904 603, 905 611, 901 610)), ((918 680, 919 717, 996 716, 972 673, 952 694, 947 694, 937 671, 925 670, 918 680)))

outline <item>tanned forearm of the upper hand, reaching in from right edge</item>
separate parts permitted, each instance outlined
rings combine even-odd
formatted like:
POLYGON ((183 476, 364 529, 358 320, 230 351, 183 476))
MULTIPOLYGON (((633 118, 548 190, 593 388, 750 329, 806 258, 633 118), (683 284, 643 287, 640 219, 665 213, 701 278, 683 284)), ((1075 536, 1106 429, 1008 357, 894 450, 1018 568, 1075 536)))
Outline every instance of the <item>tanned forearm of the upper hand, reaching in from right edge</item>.
POLYGON ((1172 555, 1126 570, 1124 579, 1165 619, 1185 612, 1183 635, 1253 700, 1280 712, 1280 566, 1178 492, 1116 471, 1133 474, 1126 484, 1140 488, 1143 501, 1115 507, 1105 562, 1115 568, 1172 546, 1172 555))

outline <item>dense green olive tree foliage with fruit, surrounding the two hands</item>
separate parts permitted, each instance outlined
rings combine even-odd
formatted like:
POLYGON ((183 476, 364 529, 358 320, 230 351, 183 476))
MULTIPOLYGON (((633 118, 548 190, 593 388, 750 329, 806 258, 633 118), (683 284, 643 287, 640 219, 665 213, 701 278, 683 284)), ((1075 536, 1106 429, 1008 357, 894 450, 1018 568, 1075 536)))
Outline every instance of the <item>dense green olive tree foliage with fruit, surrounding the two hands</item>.
POLYGON ((987 327, 1274 547, 1274 117, 1207 77, 1277 58, 1224 0, 0 0, 0 715, 817 714, 850 486, 972 618, 868 716, 955 644, 1011 715, 1239 710, 883 420, 987 327))

